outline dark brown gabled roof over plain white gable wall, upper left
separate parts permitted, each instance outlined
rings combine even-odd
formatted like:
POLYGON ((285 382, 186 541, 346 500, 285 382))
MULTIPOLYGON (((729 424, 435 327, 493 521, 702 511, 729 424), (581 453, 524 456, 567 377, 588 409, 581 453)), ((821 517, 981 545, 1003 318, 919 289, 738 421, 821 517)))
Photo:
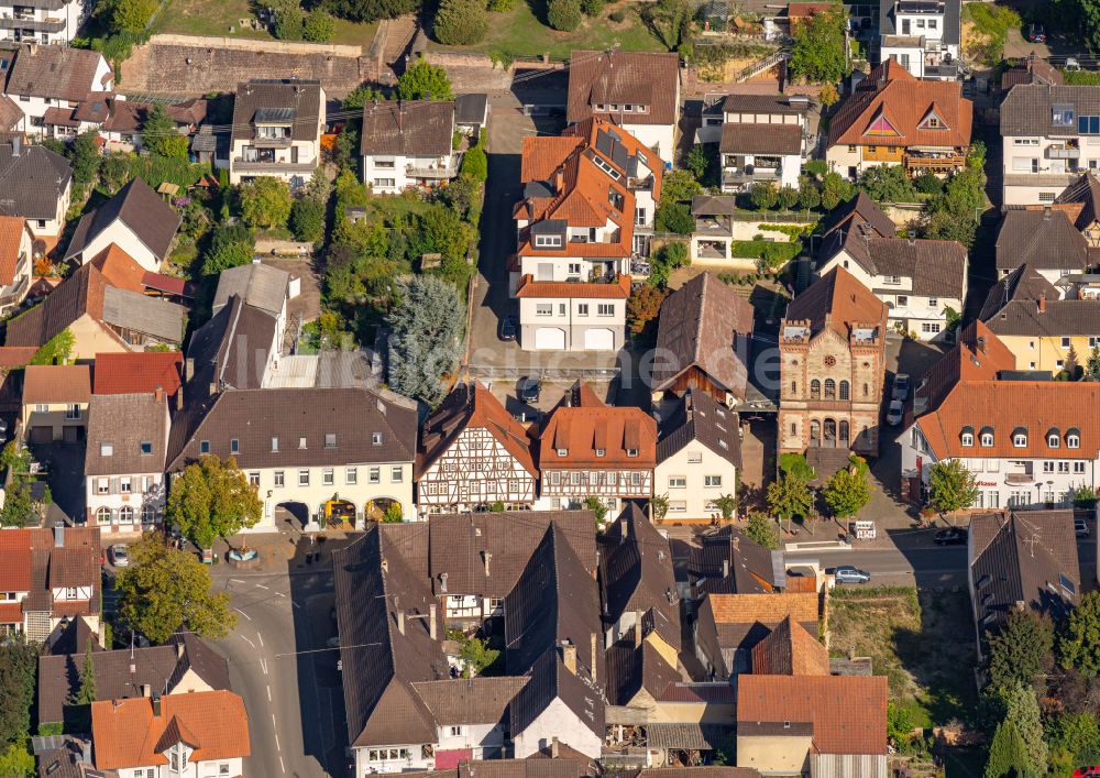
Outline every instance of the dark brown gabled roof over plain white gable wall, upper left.
POLYGON ((65 259, 76 256, 103 230, 121 221, 157 260, 164 261, 180 220, 180 216, 148 184, 133 178, 119 189, 119 194, 80 218, 65 251, 65 259))

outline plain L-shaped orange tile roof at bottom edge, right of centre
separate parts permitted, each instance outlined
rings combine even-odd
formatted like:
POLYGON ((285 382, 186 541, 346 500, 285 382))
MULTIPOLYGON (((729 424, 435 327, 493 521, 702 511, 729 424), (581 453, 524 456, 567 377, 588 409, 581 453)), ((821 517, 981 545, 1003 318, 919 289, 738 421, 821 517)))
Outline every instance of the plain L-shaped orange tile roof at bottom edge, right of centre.
POLYGON ((887 753, 886 676, 741 675, 737 681, 738 723, 812 723, 822 754, 887 753))

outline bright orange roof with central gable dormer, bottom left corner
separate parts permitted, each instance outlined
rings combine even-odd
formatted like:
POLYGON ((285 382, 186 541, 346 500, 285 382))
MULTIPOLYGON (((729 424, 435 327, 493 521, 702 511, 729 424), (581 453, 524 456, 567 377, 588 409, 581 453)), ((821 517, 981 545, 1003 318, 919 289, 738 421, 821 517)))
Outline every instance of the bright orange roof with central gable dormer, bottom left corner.
POLYGON ((195 747, 191 761, 230 759, 251 754, 244 701, 230 691, 200 691, 161 698, 138 697, 91 704, 96 769, 164 765, 164 750, 183 741, 195 747))

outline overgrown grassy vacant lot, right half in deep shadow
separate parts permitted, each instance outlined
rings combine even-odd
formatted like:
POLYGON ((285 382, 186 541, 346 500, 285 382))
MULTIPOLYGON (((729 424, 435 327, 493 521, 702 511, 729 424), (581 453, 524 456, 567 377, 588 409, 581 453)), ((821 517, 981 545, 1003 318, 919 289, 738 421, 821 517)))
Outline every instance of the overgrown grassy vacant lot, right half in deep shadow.
POLYGON ((829 599, 831 650, 871 657, 890 699, 919 726, 966 721, 974 710, 974 625, 964 592, 912 587, 836 589, 829 599))

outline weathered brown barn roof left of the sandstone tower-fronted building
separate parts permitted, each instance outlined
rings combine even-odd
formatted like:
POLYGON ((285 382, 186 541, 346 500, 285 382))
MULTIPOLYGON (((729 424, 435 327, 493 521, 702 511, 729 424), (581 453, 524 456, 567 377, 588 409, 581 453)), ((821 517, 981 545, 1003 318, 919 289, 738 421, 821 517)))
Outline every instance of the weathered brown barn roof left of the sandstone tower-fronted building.
POLYGON ((752 306, 717 276, 696 275, 661 305, 657 348, 671 359, 654 365, 653 390, 668 388, 684 370, 694 366, 744 399, 748 365, 738 347, 747 358, 751 333, 752 306))

